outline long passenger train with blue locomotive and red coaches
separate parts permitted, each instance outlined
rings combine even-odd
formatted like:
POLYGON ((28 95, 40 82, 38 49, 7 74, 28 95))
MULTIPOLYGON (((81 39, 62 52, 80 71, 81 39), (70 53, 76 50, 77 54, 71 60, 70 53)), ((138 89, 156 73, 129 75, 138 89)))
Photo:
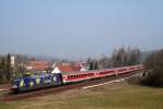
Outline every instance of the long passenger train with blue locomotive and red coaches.
POLYGON ((70 72, 70 73, 24 73, 22 76, 16 76, 12 81, 12 92, 22 93, 26 90, 35 90, 47 87, 55 87, 67 85, 70 83, 77 83, 89 81, 93 78, 101 78, 112 75, 125 74, 138 70, 142 70, 142 64, 111 68, 104 70, 92 70, 84 72, 70 72))

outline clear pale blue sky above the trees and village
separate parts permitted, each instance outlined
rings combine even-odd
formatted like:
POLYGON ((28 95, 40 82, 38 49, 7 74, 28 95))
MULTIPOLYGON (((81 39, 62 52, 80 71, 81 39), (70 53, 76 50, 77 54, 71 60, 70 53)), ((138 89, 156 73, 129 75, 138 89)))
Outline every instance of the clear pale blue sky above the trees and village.
POLYGON ((86 58, 163 48, 163 0, 0 0, 0 53, 86 58))

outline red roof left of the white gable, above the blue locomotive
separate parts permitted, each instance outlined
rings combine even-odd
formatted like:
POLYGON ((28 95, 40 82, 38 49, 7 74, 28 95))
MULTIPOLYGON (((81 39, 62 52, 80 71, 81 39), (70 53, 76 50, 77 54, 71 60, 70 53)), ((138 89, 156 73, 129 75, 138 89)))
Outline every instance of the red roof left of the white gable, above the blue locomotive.
POLYGON ((30 61, 29 66, 32 66, 32 70, 46 70, 50 66, 50 62, 48 61, 30 61))

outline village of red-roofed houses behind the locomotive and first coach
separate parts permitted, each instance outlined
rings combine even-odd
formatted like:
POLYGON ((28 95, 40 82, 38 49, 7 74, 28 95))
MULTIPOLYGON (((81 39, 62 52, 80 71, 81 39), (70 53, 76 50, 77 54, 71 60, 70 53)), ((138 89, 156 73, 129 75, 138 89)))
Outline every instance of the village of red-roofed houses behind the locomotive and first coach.
POLYGON ((11 66, 14 71, 22 72, 39 72, 39 71, 55 71, 55 72, 77 72, 87 71, 88 64, 83 61, 65 61, 65 60, 41 60, 27 58, 22 55, 11 56, 11 66))

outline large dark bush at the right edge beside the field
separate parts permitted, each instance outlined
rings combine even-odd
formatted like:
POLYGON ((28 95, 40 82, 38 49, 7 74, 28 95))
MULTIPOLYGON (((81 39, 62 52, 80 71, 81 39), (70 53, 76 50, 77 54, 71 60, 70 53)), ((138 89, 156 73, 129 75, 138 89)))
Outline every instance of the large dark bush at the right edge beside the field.
POLYGON ((148 74, 142 83, 151 86, 163 86, 163 49, 147 58, 145 68, 148 74))

